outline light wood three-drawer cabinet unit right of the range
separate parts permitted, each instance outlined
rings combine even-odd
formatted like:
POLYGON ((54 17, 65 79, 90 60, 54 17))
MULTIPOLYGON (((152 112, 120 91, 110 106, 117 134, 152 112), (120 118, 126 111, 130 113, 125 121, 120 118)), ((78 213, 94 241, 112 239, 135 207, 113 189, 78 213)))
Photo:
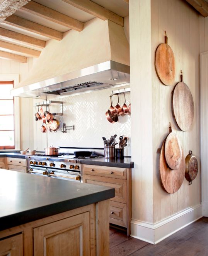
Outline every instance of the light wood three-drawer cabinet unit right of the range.
POLYGON ((131 169, 83 165, 83 182, 115 188, 110 199, 110 223, 127 228, 130 235, 131 221, 131 169))

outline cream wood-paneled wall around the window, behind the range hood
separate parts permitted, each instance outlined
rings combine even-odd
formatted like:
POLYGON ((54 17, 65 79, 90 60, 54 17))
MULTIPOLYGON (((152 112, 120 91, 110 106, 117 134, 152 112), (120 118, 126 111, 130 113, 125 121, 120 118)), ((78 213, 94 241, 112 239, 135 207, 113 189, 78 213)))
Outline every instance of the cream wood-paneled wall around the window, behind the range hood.
MULTIPOLYGON (((27 76, 32 63, 32 58, 28 58, 28 63, 0 59, 0 74, 19 74, 21 81, 27 76)), ((34 147, 33 112, 33 99, 20 98, 20 149, 33 149, 34 147)))

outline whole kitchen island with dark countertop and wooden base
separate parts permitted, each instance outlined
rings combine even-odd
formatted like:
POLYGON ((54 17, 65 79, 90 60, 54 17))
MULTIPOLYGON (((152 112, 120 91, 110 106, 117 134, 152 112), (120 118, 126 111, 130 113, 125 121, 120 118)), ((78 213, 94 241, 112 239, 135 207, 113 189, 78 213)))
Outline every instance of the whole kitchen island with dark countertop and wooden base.
POLYGON ((0 172, 1 255, 109 254, 113 188, 0 172))

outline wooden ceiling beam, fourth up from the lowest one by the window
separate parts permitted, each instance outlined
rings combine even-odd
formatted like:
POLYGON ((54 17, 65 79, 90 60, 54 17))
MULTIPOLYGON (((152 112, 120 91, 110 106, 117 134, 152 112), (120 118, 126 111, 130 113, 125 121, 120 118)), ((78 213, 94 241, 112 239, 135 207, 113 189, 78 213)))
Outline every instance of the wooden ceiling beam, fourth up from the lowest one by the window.
POLYGON ((29 21, 27 19, 20 18, 16 15, 11 15, 7 17, 3 23, 9 24, 11 26, 15 26, 17 28, 21 28, 23 30, 27 30, 39 35, 42 35, 44 37, 53 38, 56 40, 61 40, 63 33, 53 30, 52 28, 48 28, 45 26, 42 26, 38 23, 34 23, 32 21, 29 21))

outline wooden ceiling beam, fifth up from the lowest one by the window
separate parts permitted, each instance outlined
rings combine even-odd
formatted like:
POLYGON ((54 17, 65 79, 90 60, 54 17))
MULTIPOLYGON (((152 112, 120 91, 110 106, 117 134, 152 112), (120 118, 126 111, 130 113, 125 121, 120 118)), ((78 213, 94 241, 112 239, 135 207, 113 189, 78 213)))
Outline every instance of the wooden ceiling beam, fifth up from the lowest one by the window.
POLYGON ((38 17, 43 17, 48 21, 55 22, 67 28, 73 30, 82 31, 84 28, 84 22, 73 19, 65 14, 57 12, 56 10, 50 9, 44 5, 31 1, 24 5, 20 10, 24 12, 32 13, 38 17))

